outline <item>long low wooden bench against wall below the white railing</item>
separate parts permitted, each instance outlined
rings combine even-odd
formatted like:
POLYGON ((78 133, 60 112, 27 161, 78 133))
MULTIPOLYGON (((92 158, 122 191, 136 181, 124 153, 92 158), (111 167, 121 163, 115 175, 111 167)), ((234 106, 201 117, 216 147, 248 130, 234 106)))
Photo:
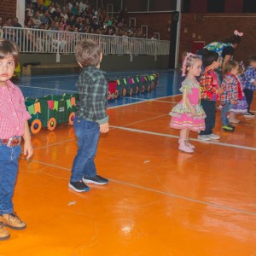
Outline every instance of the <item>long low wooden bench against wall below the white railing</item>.
POLYGON ((22 67, 22 75, 23 76, 31 76, 32 69, 52 69, 52 68, 77 68, 78 72, 80 70, 80 66, 78 63, 49 63, 49 64, 40 64, 33 66, 32 64, 26 63, 26 66, 22 67))

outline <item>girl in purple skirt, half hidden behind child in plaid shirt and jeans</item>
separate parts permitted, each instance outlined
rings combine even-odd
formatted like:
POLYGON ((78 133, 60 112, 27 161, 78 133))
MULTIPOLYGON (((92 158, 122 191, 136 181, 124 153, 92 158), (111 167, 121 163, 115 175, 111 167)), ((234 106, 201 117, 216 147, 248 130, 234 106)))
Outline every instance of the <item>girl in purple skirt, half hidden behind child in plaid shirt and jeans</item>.
POLYGON ((238 124, 239 123, 239 119, 236 119, 236 113, 247 113, 247 108, 248 108, 248 104, 247 104, 247 99, 244 95, 243 89, 244 89, 244 81, 241 78, 242 73, 244 72, 245 67, 243 65, 243 63, 239 63, 239 67, 238 67, 238 74, 236 75, 236 79, 237 79, 237 84, 238 84, 238 98, 239 100, 237 101, 236 105, 234 105, 231 109, 230 109, 230 123, 234 123, 234 124, 238 124))

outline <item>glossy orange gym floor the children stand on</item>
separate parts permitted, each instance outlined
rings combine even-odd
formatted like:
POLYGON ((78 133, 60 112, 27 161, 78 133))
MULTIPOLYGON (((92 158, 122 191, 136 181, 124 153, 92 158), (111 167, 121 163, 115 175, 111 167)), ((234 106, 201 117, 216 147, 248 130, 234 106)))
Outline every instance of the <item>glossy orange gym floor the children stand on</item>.
MULTIPOLYGON (((32 137, 32 160, 20 158, 15 211, 27 229, 11 230, 0 255, 247 256, 256 253, 256 119, 218 142, 191 138, 177 150, 170 109, 180 96, 108 109, 98 172, 110 179, 79 194, 68 189, 76 153, 73 127, 32 137)), ((254 97, 253 110, 256 110, 254 97)))

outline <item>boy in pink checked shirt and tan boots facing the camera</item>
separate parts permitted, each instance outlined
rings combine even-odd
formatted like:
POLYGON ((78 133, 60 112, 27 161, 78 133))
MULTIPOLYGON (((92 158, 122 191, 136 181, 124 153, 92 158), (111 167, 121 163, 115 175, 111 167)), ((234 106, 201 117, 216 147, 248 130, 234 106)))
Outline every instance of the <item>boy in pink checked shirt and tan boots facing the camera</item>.
POLYGON ((12 197, 19 167, 20 141, 24 139, 26 159, 32 156, 32 143, 24 97, 9 79, 18 65, 19 49, 14 42, 0 39, 0 240, 8 239, 9 230, 23 230, 26 223, 14 212, 12 197))

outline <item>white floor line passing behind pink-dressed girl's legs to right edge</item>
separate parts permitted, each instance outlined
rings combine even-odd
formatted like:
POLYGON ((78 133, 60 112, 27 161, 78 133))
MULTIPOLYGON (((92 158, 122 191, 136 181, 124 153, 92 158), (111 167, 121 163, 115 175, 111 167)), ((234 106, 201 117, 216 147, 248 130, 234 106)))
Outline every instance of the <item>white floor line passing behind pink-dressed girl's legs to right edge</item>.
MULTIPOLYGON (((125 131, 139 132, 139 133, 156 135, 156 136, 161 136, 161 137, 179 138, 178 136, 172 135, 172 134, 166 134, 166 133, 160 133, 160 132, 154 132, 154 131, 143 131, 143 130, 138 130, 138 129, 133 129, 133 128, 127 128, 127 127, 124 127, 124 126, 110 125, 110 127, 115 128, 115 129, 125 130, 125 131)), ((241 148, 241 149, 256 151, 256 148, 241 146, 241 145, 236 145, 236 144, 218 143, 218 142, 213 142, 213 141, 204 142, 204 141, 201 141, 201 140, 195 139, 195 138, 190 138, 190 140, 195 141, 195 142, 200 142, 200 143, 209 143, 209 144, 214 144, 214 145, 218 145, 218 146, 224 146, 224 147, 230 147, 230 148, 241 148)))

